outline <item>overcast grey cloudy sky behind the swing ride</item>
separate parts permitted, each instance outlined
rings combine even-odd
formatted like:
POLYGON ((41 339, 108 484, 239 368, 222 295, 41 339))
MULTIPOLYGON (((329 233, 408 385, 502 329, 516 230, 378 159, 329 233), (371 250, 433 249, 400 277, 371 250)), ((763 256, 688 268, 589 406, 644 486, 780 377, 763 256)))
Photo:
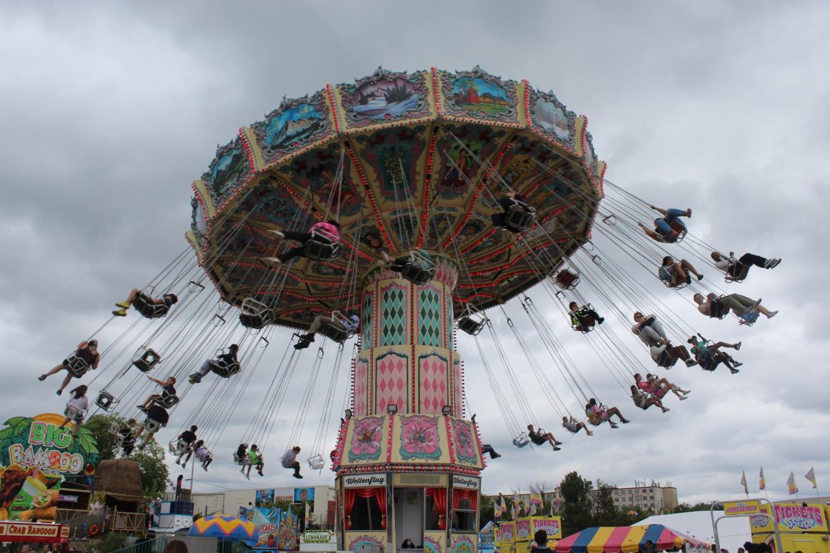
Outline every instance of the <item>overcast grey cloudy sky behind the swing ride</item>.
MULTIPOLYGON (((484 491, 555 484, 577 470, 619 486, 671 481, 681 501, 697 502, 741 495, 742 470, 756 488, 763 465, 770 497, 784 497, 790 470, 809 497, 802 476, 811 466, 826 492, 828 24, 827 2, 4 2, 0 415, 63 409, 66 398, 54 395, 60 377, 35 377, 186 247, 190 182, 240 126, 263 119, 284 95, 351 82, 378 65, 478 64, 553 90, 586 114, 608 179, 658 205, 691 206, 692 232, 707 243, 784 259, 730 288, 780 309, 771 321, 738 327, 681 303, 686 323, 707 337, 744 342, 740 375, 676 368, 666 376, 694 391, 660 415, 635 414, 607 372, 589 371, 598 394, 634 422, 568 437, 558 454, 510 445, 492 391, 472 384, 485 380, 470 377, 481 373, 475 347, 461 342, 483 438, 504 454, 483 473, 484 491)), ((656 281, 649 286, 673 298, 656 281)), ((538 300, 554 321, 556 311, 538 300)), ((115 321, 106 336, 134 318, 115 321)), ((579 365, 595 363, 585 337, 551 324, 579 365)), ((276 336, 265 366, 285 351, 289 333, 276 336)), ((562 439, 524 377, 537 420, 562 439)), ((289 398, 305 384, 291 386, 289 398)), ((198 491, 295 483, 276 463, 295 400, 281 406, 267 478, 247 483, 229 462, 259 391, 251 386, 233 411, 198 491)), ((175 415, 192 408, 176 411, 162 439, 187 424, 175 415)), ((318 424, 312 411, 301 444, 310 446, 318 424)), ((334 482, 328 471, 305 472, 304 485, 334 482)))

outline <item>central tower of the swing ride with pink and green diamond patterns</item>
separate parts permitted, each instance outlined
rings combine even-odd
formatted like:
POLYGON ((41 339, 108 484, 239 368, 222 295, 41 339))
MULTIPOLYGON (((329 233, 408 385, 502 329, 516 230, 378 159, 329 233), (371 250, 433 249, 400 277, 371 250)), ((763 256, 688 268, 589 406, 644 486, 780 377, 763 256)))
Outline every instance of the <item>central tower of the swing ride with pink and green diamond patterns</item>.
POLYGON ((476 551, 483 463, 453 349, 458 269, 433 259, 427 284, 383 269, 364 281, 352 416, 334 458, 347 550, 389 551, 409 539, 429 551, 476 551))

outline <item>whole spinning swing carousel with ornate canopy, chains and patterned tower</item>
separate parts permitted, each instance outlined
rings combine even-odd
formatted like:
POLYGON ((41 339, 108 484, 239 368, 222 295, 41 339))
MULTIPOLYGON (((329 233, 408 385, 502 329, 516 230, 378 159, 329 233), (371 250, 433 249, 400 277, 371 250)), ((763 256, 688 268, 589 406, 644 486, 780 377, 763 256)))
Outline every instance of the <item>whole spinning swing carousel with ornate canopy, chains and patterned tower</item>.
MULTIPOLYGON (((587 123, 553 93, 478 67, 378 68, 354 84, 283 99, 263 121, 217 148, 208 171, 193 182, 187 239, 196 259, 183 251, 133 301, 144 317, 134 318, 105 344, 105 370, 90 382, 111 376, 100 389, 97 408, 128 418, 134 402, 156 386, 144 375, 173 376, 182 390, 167 390, 156 403, 176 411, 171 418, 180 429, 198 424, 198 437, 208 448, 238 406, 251 403, 251 390, 265 389, 256 408, 260 415, 240 439, 262 452, 295 378, 305 391, 296 398, 286 448, 275 453, 302 441, 310 468, 320 470, 330 458, 341 549, 401 542, 395 526, 412 507, 435 518, 424 521, 425 546, 475 551, 486 463, 478 426, 467 419, 471 409, 457 329, 469 335, 464 343, 475 344, 480 357, 475 362, 520 449, 544 447, 547 441, 536 421, 538 408, 525 393, 530 375, 549 390, 542 396, 564 421, 572 413, 575 419, 587 414, 593 426, 608 422, 616 428, 614 409, 606 410, 601 401, 594 410, 583 410, 583 402, 599 399, 592 387, 598 375, 581 370, 569 356, 562 328, 584 334, 596 365, 626 396, 632 376, 645 373, 644 366, 688 359, 688 352, 681 355, 685 347, 672 347, 673 361, 666 361, 667 354, 655 357, 654 344, 653 361, 643 357, 641 340, 628 330, 633 312, 656 313, 655 321, 665 328, 652 327, 675 342, 696 333, 658 296, 666 290, 657 267, 671 252, 677 260, 686 257, 711 269, 708 254, 715 249, 685 227, 673 243, 658 243, 637 229, 654 212, 604 180, 605 163, 593 151, 587 123), (295 234, 325 221, 339 226, 339 236, 295 234), (617 252, 623 260, 615 259, 617 252), (268 261, 275 256, 282 262, 268 261), (559 309, 562 328, 554 328, 559 324, 551 313, 541 313, 530 289, 559 309), (181 298, 168 309, 147 308, 146 301, 141 307, 141 298, 163 293, 181 298), (529 327, 517 327, 505 311, 513 298, 529 327), (593 320, 572 317, 570 302, 587 306, 593 320), (611 320, 602 324, 593 309, 611 320), (510 328, 507 337, 488 316, 496 312, 510 328), (303 363, 302 348, 314 335, 300 334, 315 318, 319 334, 310 351, 316 354, 303 363), (300 334, 293 339, 283 328, 300 334), (257 377, 266 350, 281 333, 290 339, 276 371, 257 377), (345 343, 353 337, 347 355, 345 343), (520 349, 518 360, 503 343, 510 337, 520 349), (236 350, 224 349, 230 344, 237 344, 238 359, 236 350), (336 348, 329 374, 322 370, 327 345, 336 348), (487 355, 486 347, 495 348, 497 356, 487 355), (216 348, 222 349, 213 353, 216 348), (224 361, 217 357, 226 351, 224 361), (203 372, 194 377, 191 372, 200 365, 203 372), (190 386, 182 386, 188 375, 190 386), (188 404, 197 385, 211 400, 181 416, 178 407, 188 404), (305 426, 312 413, 319 420, 309 444, 305 426), (339 414, 344 415, 332 444, 339 414), (530 435, 528 423, 537 427, 530 435), (326 444, 334 446, 330 454, 326 444), (406 506, 388 501, 404 490, 417 500, 406 506), (373 516, 374 523, 364 520, 373 516)), ((668 288, 684 297, 690 291, 714 293, 713 302, 721 292, 713 279, 670 279, 668 288)), ((705 339, 703 344, 699 352, 705 354, 705 339)), ((706 370, 717 365, 699 361, 706 370)), ((78 363, 71 374, 81 377, 85 371, 78 363)), ((681 396, 667 381, 646 391, 659 399, 661 390, 681 396)), ((576 434, 579 426, 569 430, 576 434)), ((171 453, 186 446, 173 439, 171 453)), ((246 461, 235 461, 244 473, 246 461)))

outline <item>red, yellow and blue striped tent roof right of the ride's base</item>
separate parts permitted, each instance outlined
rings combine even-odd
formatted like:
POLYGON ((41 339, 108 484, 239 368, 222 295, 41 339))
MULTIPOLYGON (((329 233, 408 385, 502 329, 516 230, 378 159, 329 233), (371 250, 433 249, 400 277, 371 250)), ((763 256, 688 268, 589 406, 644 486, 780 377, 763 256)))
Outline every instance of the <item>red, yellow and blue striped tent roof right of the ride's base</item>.
POLYGON ((681 547, 689 542, 692 546, 708 546, 705 542, 686 534, 666 528, 662 524, 648 526, 593 526, 568 536, 556 544, 556 553, 634 553, 646 551, 646 542, 651 540, 657 551, 681 547))

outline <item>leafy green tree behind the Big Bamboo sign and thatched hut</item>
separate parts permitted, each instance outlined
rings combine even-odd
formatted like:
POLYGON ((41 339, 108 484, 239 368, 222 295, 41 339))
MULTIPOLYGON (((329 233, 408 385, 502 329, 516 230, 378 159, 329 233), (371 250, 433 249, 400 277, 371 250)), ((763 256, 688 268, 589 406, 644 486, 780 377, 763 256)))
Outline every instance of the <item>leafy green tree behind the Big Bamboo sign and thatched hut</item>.
MULTIPOLYGON (((88 429, 98 442, 100 460, 113 459, 121 453, 116 446, 115 434, 110 432, 110 425, 121 425, 125 422, 119 415, 94 415, 86 421, 82 429, 88 429)), ((143 451, 135 450, 129 456, 130 461, 139 463, 141 468, 141 490, 148 499, 161 499, 167 489, 167 479, 170 475, 167 465, 164 464, 164 448, 155 438, 151 439, 143 451)))

